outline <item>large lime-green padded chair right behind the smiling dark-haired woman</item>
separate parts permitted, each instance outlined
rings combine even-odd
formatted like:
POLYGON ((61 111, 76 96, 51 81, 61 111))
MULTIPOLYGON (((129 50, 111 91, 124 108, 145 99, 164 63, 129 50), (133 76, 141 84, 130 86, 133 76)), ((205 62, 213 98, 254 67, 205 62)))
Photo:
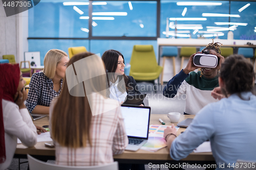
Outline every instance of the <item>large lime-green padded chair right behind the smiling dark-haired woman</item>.
POLYGON ((163 67, 157 64, 153 45, 134 45, 131 57, 130 76, 136 81, 148 81, 154 84, 163 67))

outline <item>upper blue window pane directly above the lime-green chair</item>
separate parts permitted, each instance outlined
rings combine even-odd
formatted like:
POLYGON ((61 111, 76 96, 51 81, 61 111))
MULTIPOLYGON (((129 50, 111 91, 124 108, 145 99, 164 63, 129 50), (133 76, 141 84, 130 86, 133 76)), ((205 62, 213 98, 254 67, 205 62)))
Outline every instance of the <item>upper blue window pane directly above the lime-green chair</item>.
POLYGON ((106 1, 93 6, 92 16, 92 36, 157 36, 156 1, 106 1))

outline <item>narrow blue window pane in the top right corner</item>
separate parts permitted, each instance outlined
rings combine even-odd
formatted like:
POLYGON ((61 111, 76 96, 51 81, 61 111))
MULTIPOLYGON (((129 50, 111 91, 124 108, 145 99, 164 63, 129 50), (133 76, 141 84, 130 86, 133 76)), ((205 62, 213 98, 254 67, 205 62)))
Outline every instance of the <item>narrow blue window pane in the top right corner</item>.
POLYGON ((230 2, 230 13, 240 15, 231 17, 234 39, 256 40, 256 2, 230 2), (237 24, 237 25, 236 25, 237 24))

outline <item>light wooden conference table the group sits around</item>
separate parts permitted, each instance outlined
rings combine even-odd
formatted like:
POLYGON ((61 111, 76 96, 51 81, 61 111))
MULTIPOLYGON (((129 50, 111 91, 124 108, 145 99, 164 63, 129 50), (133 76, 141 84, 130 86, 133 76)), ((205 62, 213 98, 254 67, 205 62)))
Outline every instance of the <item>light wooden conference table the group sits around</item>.
MULTIPOLYGON (((186 118, 194 118, 195 115, 181 115, 179 122, 186 118)), ((166 114, 151 114, 150 125, 161 125, 159 118, 163 120, 165 125, 170 126, 170 120, 166 114)), ((37 126, 49 125, 49 116, 40 118, 34 121, 34 124, 37 126)), ((174 125, 177 125, 174 124, 174 125)), ((185 131, 186 128, 179 128, 177 135, 185 131)), ((189 139, 188 139, 189 140, 189 139)), ((17 144, 15 151, 15 157, 25 158, 27 154, 33 155, 37 159, 48 160, 55 159, 55 148, 45 147, 45 142, 37 142, 37 144, 32 148, 27 148, 23 144, 17 144)), ((114 159, 119 163, 171 163, 175 162, 170 158, 169 151, 167 147, 158 150, 157 152, 149 152, 144 150, 138 150, 136 152, 124 151, 120 155, 114 155, 114 159)), ((211 152, 207 153, 190 153, 186 158, 182 159, 180 162, 190 162, 202 161, 202 163, 213 163, 215 161, 211 152)))

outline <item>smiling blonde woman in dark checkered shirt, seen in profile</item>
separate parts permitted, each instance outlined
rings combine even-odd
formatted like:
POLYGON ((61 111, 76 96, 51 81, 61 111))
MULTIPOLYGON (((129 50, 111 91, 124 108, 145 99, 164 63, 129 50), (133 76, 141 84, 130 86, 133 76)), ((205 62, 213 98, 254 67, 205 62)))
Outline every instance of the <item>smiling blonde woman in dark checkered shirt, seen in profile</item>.
POLYGON ((44 70, 33 74, 29 83, 26 106, 30 113, 49 114, 52 99, 61 91, 68 62, 67 53, 61 50, 52 49, 47 52, 44 70))

